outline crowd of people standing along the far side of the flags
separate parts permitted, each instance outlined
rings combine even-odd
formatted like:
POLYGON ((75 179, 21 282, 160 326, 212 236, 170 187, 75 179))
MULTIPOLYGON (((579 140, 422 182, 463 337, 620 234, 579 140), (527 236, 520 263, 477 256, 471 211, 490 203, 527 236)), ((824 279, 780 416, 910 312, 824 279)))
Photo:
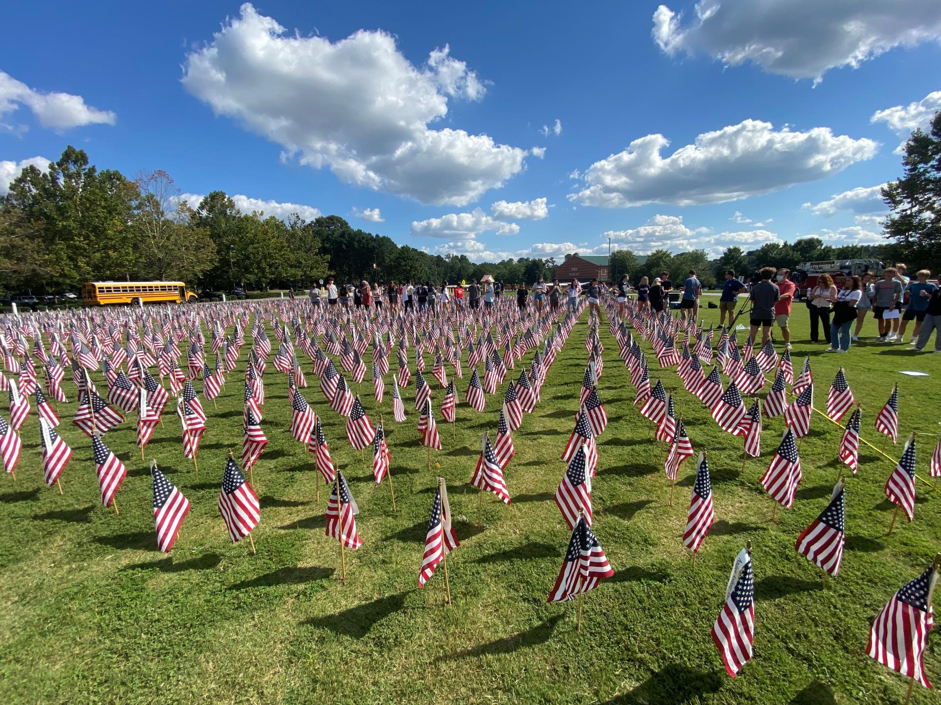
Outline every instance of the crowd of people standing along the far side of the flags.
MULTIPOLYGON (((929 281, 931 272, 921 270, 915 279, 906 275, 904 264, 887 267, 880 278, 867 273, 852 275, 837 289, 830 274, 821 274, 816 285, 806 292, 805 304, 810 322, 810 342, 825 342, 828 352, 849 352, 853 342, 859 340, 869 312, 875 319, 881 342, 901 342, 910 323, 913 324, 910 349, 922 351, 932 333, 941 329, 941 288, 929 281), (913 322, 914 321, 914 322, 913 322)), ((358 285, 337 286, 333 277, 326 284, 311 288, 311 302, 319 305, 382 306, 389 305, 398 310, 436 308, 438 306, 468 306, 489 308, 503 295, 502 281, 486 276, 478 282, 471 280, 449 285, 442 282, 436 286, 431 282, 396 283, 390 281, 382 286, 362 280, 358 285)), ((586 283, 577 278, 567 284, 558 279, 548 282, 540 276, 531 287, 520 282, 517 285, 517 305, 520 309, 533 305, 540 313, 548 305, 556 310, 563 300, 569 309, 575 309, 579 298, 586 296, 588 305, 596 314, 602 297, 616 299, 618 312, 623 316, 629 298, 635 298, 641 311, 660 313, 669 305, 669 295, 674 291, 669 272, 663 272, 650 282, 641 277, 636 285, 630 284, 630 275, 623 274, 617 282, 600 282, 592 278, 586 283)), ((691 270, 678 287, 679 315, 682 319, 697 319, 702 296, 702 282, 691 270)), ((790 280, 788 269, 764 267, 758 273, 758 282, 749 286, 737 278, 732 270, 725 273, 722 292, 719 295, 719 325, 731 325, 736 320, 739 298, 747 295, 751 305, 749 322, 751 337, 763 345, 772 334, 774 326, 781 333, 784 346, 791 349, 789 321, 797 286, 790 280)), ((711 306, 711 304, 710 304, 711 306)), ((941 333, 934 337, 934 352, 941 352, 941 333)))

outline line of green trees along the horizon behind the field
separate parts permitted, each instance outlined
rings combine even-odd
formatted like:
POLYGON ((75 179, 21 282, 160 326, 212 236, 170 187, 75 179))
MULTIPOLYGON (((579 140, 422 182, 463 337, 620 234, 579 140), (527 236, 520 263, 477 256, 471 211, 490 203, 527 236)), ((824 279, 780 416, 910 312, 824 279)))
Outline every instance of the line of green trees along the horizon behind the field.
MULTIPOLYGON (((890 213, 885 244, 828 245, 819 238, 768 243, 744 251, 728 247, 710 259, 697 249, 676 255, 658 249, 642 261, 619 249, 610 277, 652 281, 693 269, 706 286, 726 269, 748 274, 764 265, 794 269, 799 262, 833 258, 905 261, 914 271, 941 270, 941 113, 928 133, 905 146, 904 175, 883 189, 890 213)), ((577 253, 567 254, 570 258, 577 253)), ((199 204, 182 200, 163 170, 134 179, 99 170, 82 149, 68 147, 46 171, 26 166, 0 199, 0 291, 34 294, 78 290, 93 280, 182 280, 199 290, 306 288, 333 274, 340 283, 435 282, 491 274, 507 285, 550 279, 554 258, 471 262, 466 255, 432 255, 349 225, 339 215, 306 221, 244 213, 230 196, 213 191, 199 204)))

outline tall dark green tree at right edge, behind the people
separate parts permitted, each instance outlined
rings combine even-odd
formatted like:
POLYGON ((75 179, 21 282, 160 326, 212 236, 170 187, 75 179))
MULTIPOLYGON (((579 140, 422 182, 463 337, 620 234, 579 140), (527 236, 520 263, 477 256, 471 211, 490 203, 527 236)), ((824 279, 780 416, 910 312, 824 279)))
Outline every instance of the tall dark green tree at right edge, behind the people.
POLYGON ((916 130, 905 143, 904 176, 883 188, 891 209, 885 237, 901 247, 910 270, 941 270, 941 112, 929 132, 916 130), (913 266, 914 264, 914 266, 913 266))

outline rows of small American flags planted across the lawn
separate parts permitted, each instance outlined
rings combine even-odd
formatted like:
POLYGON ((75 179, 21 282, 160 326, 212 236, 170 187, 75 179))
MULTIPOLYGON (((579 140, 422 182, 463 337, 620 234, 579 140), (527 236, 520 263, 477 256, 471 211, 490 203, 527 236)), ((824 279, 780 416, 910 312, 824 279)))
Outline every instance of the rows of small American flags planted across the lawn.
MULTIPOLYGON (((129 508, 129 485, 145 483, 152 495, 150 550, 170 554, 170 560, 197 512, 215 512, 224 533, 215 532, 212 540, 247 539, 245 560, 263 557, 266 513, 272 509, 258 488, 268 482, 271 446, 287 444, 317 478, 321 553, 324 561, 333 556, 342 584, 331 589, 356 584, 361 561, 353 564, 351 556, 372 548, 370 538, 360 536, 358 520, 361 525, 376 511, 398 517, 397 488, 400 505, 407 497, 409 506, 421 501, 425 512, 422 537, 413 545, 412 585, 442 591, 441 608, 455 609, 465 599, 461 553, 482 532, 498 531, 502 513, 517 511, 515 478, 528 469, 517 460, 523 434, 522 443, 535 448, 528 453, 540 471, 557 468, 557 484, 543 488, 539 507, 551 512, 568 537, 557 546, 554 570, 538 576, 542 600, 573 602, 570 629, 576 633, 604 631, 604 619, 590 601, 611 589, 607 583, 616 584, 626 566, 609 562, 605 547, 611 550, 614 537, 597 519, 606 504, 625 498, 610 494, 610 476, 601 470, 610 467, 605 456, 616 447, 609 440, 617 441, 628 427, 641 430, 639 442, 630 446, 633 462, 663 471, 663 494, 653 501, 664 511, 685 508, 685 522, 664 539, 673 542, 671 570, 701 572, 703 559, 697 564, 697 556, 710 555, 710 532, 729 525, 733 509, 710 474, 717 458, 726 472, 740 462, 739 474, 746 463, 760 466, 763 472, 748 480, 749 513, 756 520, 774 523, 779 511, 814 505, 817 518, 790 543, 792 555, 812 564, 824 588, 842 579, 844 561, 853 563, 844 549, 857 526, 846 508, 857 482, 878 479, 883 486, 890 509, 884 512, 886 535, 920 532, 934 550, 941 547, 937 525, 923 525, 919 516, 926 503, 936 515, 941 502, 941 415, 931 404, 901 399, 899 385, 885 381, 885 403, 864 408, 853 396, 853 368, 838 368, 832 381, 821 380, 809 356, 791 360, 770 343, 756 351, 736 331, 669 314, 629 307, 620 320, 607 306, 598 321, 581 307, 575 314, 547 308, 538 315, 504 300, 494 309, 390 315, 383 308, 347 311, 272 300, 47 312, 2 322, 0 389, 9 404, 0 412, 0 454, 8 487, 41 482, 45 492, 65 502, 77 491, 72 478, 94 467, 94 500, 102 508, 96 511, 111 512, 107 521, 120 525, 124 514, 141 509, 129 508), (563 372, 562 365, 577 374, 563 372), (571 380, 570 394, 547 395, 553 375, 571 380), (616 384, 602 384, 615 376, 616 384), (825 402, 818 405, 815 386, 827 385, 825 402), (286 389, 286 395, 272 389, 286 389), (220 414, 220 402, 229 415, 237 402, 242 433, 206 446, 205 438, 217 438, 214 425, 228 417, 220 414), (625 413, 609 415, 614 404, 625 413), (279 421, 269 423, 273 406, 279 421), (923 416, 924 433, 901 437, 900 415, 923 416), (528 431, 536 416, 549 417, 559 435, 528 431), (704 424, 713 427, 709 433, 704 424), (111 441, 115 431, 126 429, 134 429, 133 436, 111 441), (738 450, 712 446, 713 429, 738 450), (24 443, 27 436, 39 443, 24 443), (802 455, 808 436, 816 451, 811 459, 802 455), (132 437, 133 447, 126 442, 132 437), (159 453, 149 447, 155 438, 159 453), (396 458, 404 445, 409 458, 421 458, 408 468, 405 484, 396 458), (822 459, 821 447, 828 453, 822 459), (421 453, 416 456, 414 449, 421 453), (360 509, 350 478, 359 479, 363 471, 374 490, 360 496, 360 509), (182 478, 190 473, 204 483, 215 481, 213 504, 203 501, 203 493, 186 496, 182 478), (801 499, 810 475, 829 478, 832 490, 801 499), (429 493, 416 494, 417 482, 429 493), (460 521, 452 513, 449 488, 459 497, 460 521), (388 505, 376 502, 380 491, 388 492, 388 505), (324 553, 328 545, 331 554, 324 553), (583 617, 585 608, 596 619, 583 617)), ((740 509, 734 510, 738 515, 740 509)), ((725 594, 698 590, 694 596, 711 605, 711 623, 687 628, 710 635, 715 664, 738 681, 747 680, 749 662, 761 653, 767 625, 759 602, 762 546, 747 532, 735 539, 738 553, 724 558, 725 594)), ((387 538, 372 540, 381 546, 387 538)), ((870 586, 883 600, 872 610, 868 643, 861 641, 856 650, 907 677, 906 686, 930 688, 925 659, 931 658, 939 565, 933 553, 922 563, 903 583, 870 586)), ((610 598, 605 604, 617 608, 610 598)), ((813 647, 796 638, 793 644, 813 647)), ((932 668, 938 672, 941 666, 927 670, 932 668)))

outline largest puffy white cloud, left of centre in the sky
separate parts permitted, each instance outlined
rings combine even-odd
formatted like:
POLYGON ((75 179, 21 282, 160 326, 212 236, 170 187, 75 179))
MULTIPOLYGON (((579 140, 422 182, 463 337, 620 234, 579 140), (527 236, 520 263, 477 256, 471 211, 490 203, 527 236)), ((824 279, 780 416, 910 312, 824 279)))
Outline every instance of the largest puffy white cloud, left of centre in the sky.
POLYGON ((449 97, 476 101, 486 86, 450 48, 416 67, 382 31, 331 42, 288 33, 250 4, 186 56, 183 86, 345 183, 422 203, 467 205, 524 168, 525 149, 487 134, 432 130, 449 97))

